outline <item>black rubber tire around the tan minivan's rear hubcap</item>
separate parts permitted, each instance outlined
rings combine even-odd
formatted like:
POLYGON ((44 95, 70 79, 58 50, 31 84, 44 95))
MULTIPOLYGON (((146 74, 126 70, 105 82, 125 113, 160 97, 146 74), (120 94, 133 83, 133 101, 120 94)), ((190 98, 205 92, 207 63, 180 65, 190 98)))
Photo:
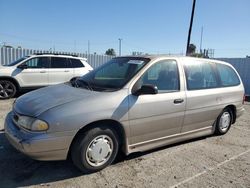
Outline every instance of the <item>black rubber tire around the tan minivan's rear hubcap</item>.
POLYGON ((217 118, 217 120, 216 120, 215 135, 224 135, 224 134, 226 134, 226 133, 229 131, 231 125, 232 125, 232 120, 233 120, 232 111, 231 111, 229 108, 225 108, 225 109, 220 113, 220 115, 218 116, 218 118, 217 118), (225 130, 223 130, 223 129, 221 128, 221 125, 220 125, 220 121, 221 121, 221 118, 222 118, 223 114, 228 114, 229 117, 230 117, 229 125, 228 125, 228 127, 227 127, 225 130))

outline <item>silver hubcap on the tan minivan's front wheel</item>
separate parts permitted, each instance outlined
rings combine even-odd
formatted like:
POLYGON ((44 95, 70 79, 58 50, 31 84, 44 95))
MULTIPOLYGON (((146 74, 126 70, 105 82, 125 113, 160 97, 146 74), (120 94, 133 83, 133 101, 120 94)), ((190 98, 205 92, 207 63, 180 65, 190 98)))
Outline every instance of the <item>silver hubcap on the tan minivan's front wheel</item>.
POLYGON ((88 145, 86 159, 91 166, 101 166, 105 164, 113 152, 113 141, 107 135, 94 138, 88 145))

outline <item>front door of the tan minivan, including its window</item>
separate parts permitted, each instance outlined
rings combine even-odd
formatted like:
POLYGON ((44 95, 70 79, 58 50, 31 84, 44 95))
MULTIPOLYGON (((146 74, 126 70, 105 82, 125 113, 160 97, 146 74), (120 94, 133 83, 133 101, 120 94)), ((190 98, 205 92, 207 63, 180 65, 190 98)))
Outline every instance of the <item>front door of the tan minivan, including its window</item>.
POLYGON ((186 100, 179 73, 175 60, 162 60, 137 81, 157 86, 158 94, 129 96, 130 145, 180 133, 186 100))

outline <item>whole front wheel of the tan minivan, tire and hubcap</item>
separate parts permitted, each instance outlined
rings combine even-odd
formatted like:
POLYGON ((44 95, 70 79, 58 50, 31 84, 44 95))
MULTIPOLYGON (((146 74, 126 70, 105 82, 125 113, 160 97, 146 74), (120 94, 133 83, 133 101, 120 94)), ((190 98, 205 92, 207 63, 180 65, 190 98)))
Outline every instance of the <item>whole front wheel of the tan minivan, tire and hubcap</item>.
POLYGON ((70 152, 74 165, 89 174, 110 165, 118 150, 117 133, 108 126, 100 126, 77 136, 70 152))

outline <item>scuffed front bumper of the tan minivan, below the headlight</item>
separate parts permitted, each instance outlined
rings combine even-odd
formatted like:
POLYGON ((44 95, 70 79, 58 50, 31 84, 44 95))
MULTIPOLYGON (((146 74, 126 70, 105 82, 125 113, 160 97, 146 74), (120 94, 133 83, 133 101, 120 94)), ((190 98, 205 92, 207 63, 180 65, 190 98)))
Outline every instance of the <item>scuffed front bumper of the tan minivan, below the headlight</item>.
POLYGON ((5 136, 18 151, 36 160, 65 160, 75 135, 72 132, 28 132, 17 127, 10 112, 5 119, 5 136))

